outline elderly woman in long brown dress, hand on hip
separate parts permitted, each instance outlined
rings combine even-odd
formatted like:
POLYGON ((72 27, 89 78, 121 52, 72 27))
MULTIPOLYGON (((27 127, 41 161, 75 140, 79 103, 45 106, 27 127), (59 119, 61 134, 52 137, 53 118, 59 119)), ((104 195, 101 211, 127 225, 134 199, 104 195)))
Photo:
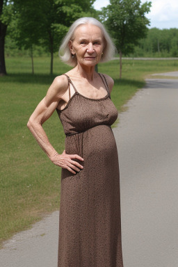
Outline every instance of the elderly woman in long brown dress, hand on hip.
POLYGON ((118 151, 111 124, 113 79, 95 72, 115 47, 92 17, 77 19, 60 46, 73 68, 57 76, 31 115, 30 131, 55 165, 62 168, 58 267, 123 267, 118 151), (57 111, 65 131, 58 154, 42 124, 57 111))

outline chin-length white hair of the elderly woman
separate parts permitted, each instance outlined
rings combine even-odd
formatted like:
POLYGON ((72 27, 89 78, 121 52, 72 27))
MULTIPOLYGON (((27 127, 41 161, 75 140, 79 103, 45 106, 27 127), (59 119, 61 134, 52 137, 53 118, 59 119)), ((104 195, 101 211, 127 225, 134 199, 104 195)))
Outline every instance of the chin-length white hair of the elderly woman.
POLYGON ((72 24, 72 26, 70 26, 69 31, 65 35, 65 38, 63 38, 62 44, 60 45, 60 49, 58 52, 60 59, 64 63, 72 67, 75 67, 77 65, 76 56, 72 58, 72 54, 69 48, 69 42, 72 39, 76 28, 83 24, 92 24, 99 27, 99 29, 102 30, 106 44, 104 46, 103 56, 99 62, 106 62, 108 60, 111 60, 111 58, 113 58, 116 52, 115 46, 113 44, 113 41, 111 40, 111 37, 108 35, 106 29, 102 25, 102 23, 99 22, 94 17, 81 17, 80 19, 76 19, 76 21, 72 24))

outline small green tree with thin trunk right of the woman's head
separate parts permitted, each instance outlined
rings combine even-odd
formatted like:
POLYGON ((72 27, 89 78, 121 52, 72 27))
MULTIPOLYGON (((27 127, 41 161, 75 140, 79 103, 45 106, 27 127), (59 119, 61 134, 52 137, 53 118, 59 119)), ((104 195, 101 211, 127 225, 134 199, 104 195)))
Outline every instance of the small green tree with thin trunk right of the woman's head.
POLYGON ((102 8, 102 22, 113 36, 115 46, 120 54, 120 79, 122 76, 122 54, 133 52, 134 46, 147 35, 151 2, 141 4, 140 0, 110 0, 102 8))

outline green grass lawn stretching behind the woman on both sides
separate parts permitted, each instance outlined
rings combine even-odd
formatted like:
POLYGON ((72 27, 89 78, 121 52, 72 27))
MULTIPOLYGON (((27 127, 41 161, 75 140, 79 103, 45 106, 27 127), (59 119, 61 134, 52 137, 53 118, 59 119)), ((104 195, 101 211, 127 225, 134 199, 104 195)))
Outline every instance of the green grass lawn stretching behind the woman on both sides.
MULTIPOLYGON (((40 220, 44 214, 59 209, 60 168, 49 161, 26 127, 54 77, 70 70, 55 58, 54 75, 50 76, 49 60, 35 58, 35 74, 32 75, 29 58, 7 58, 8 76, 0 77, 1 242, 40 220)), ((118 60, 99 65, 99 72, 115 80, 111 97, 119 111, 144 86, 146 75, 177 69, 176 60, 124 60, 120 80, 118 60)), ((56 112, 44 124, 44 129, 51 144, 61 153, 65 135, 56 112)))

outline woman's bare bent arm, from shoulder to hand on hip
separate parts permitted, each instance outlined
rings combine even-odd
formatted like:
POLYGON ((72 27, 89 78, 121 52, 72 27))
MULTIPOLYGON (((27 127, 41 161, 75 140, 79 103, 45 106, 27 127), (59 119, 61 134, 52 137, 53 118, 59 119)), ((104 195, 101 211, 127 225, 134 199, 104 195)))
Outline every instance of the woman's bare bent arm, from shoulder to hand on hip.
POLYGON ((49 87, 47 95, 38 104, 38 106, 35 108, 35 111, 29 118, 27 127, 37 140, 40 147, 42 147, 49 159, 55 165, 58 165, 62 168, 67 168, 67 170, 70 170, 70 172, 76 174, 76 172, 79 172, 83 166, 78 162, 73 161, 73 159, 79 159, 80 161, 83 161, 81 156, 76 154, 65 154, 65 151, 63 154, 58 154, 51 143, 49 143, 47 134, 42 128, 42 124, 51 117, 58 106, 58 102, 63 99, 63 95, 67 91, 67 87, 68 82, 65 76, 56 77, 54 82, 49 87))

